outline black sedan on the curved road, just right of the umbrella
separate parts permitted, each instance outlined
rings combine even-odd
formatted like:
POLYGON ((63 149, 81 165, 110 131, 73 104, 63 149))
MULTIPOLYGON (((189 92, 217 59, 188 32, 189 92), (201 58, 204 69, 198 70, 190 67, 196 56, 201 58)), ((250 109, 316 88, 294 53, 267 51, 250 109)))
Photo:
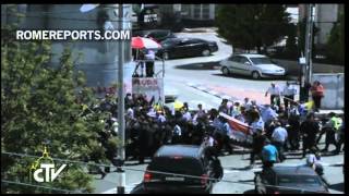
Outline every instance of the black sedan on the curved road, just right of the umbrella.
POLYGON ((169 38, 161 41, 163 48, 157 52, 165 60, 172 58, 209 56, 218 50, 216 41, 198 38, 169 38))

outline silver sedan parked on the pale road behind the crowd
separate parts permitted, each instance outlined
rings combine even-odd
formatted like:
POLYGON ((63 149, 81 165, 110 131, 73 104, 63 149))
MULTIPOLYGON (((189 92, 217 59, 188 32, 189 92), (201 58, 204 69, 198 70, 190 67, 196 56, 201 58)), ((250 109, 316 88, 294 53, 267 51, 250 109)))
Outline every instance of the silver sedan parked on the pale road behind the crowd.
POLYGON ((278 66, 268 57, 262 54, 233 54, 220 61, 224 75, 242 74, 257 79, 261 77, 285 76, 284 68, 278 66))

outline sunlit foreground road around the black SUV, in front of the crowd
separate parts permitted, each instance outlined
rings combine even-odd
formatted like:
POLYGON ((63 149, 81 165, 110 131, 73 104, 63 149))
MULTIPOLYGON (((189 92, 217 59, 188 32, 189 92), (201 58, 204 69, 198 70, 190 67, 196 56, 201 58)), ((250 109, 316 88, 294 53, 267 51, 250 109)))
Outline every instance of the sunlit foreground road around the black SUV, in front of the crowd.
MULTIPOLYGON (((321 146, 323 147, 323 146, 321 146)), ((330 148, 332 150, 333 148, 330 148)), ((248 194, 253 193, 253 177, 254 172, 261 170, 261 161, 256 161, 254 169, 246 169, 249 166, 250 155, 248 152, 241 154, 243 150, 239 148, 236 150, 236 155, 219 157, 224 167, 224 179, 221 182, 215 184, 213 194, 248 194)), ((337 156, 324 155, 322 157, 325 177, 329 182, 330 193, 344 193, 344 174, 342 163, 344 154, 337 156)), ((134 162, 129 162, 132 164, 134 162)), ((300 166, 305 163, 305 159, 301 158, 300 151, 287 154, 287 159, 280 166, 300 166)), ((130 193, 137 184, 142 182, 145 164, 127 166, 131 171, 127 170, 127 193, 130 193)), ((99 176, 96 176, 99 177, 99 176)), ((94 185, 96 187, 95 193, 112 194, 116 193, 117 174, 110 173, 105 180, 95 180, 94 185)))

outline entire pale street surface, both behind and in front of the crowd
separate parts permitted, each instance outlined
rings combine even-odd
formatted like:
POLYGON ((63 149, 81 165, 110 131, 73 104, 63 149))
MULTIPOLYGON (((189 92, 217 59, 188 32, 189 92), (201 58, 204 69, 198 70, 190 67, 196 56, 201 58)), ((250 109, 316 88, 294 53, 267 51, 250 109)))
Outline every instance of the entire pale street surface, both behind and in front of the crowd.
MULTIPOLYGON (((210 57, 196 57, 186 59, 168 60, 165 62, 165 93, 176 94, 180 101, 186 101, 191 108, 195 108, 198 102, 204 103, 205 109, 212 107, 217 108, 221 101, 217 94, 228 95, 232 99, 243 99, 246 96, 256 99, 263 103, 268 100, 264 97, 265 90, 274 81, 284 86, 286 79, 261 79, 254 81, 242 76, 222 76, 215 65, 205 63, 217 62, 231 54, 231 47, 217 37, 215 33, 180 33, 179 37, 200 37, 207 40, 215 40, 219 50, 210 57), (195 87, 194 87, 195 86, 195 87)), ((161 69, 161 62, 156 62, 156 72, 161 69)), ((254 169, 246 169, 249 166, 248 152, 241 152, 238 149, 234 155, 220 157, 225 176, 224 182, 217 183, 213 193, 217 194, 234 194, 234 193, 252 193, 254 171, 261 170, 261 164, 254 169)), ((303 164, 304 159, 300 158, 300 152, 296 151, 288 155, 288 159, 280 164, 303 164)), ((344 189, 342 162, 344 155, 323 157, 325 177, 330 183, 332 193, 340 193, 344 189)), ((127 162, 127 193, 130 193, 139 183, 142 182, 144 170, 147 163, 136 164, 136 161, 127 162), (134 171, 141 170, 141 171, 134 171)), ((104 180, 95 176, 93 185, 95 193, 116 193, 117 174, 115 172, 108 174, 104 180)))

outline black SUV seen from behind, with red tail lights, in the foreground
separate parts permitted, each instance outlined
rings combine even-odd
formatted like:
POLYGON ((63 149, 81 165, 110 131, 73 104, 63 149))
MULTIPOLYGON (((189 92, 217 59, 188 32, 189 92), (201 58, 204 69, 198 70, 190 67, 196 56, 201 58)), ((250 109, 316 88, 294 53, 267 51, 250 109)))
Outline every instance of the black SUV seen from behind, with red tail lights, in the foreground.
POLYGON ((144 191, 209 193, 213 184, 222 177, 219 159, 213 159, 209 149, 194 145, 161 146, 144 173, 144 191))

